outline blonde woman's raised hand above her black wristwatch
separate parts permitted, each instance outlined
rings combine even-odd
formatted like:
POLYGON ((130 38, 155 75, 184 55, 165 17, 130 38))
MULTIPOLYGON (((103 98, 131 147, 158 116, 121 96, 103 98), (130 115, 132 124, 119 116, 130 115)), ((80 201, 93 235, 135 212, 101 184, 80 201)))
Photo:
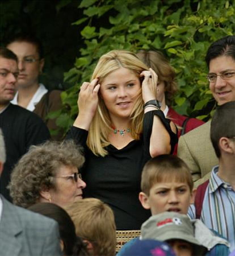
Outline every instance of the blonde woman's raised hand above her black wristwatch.
POLYGON ((152 68, 142 71, 140 77, 144 77, 142 81, 142 98, 144 103, 157 99, 157 80, 158 76, 152 68))

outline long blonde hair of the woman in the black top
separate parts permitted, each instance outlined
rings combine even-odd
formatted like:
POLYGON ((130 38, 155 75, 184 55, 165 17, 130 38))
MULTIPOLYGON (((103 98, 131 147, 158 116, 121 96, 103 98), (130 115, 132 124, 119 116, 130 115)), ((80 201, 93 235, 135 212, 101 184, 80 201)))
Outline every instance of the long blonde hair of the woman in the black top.
MULTIPOLYGON (((137 77, 144 70, 148 70, 148 67, 142 63, 141 60, 133 52, 114 50, 100 57, 98 64, 95 67, 91 80, 95 77, 99 77, 99 84, 106 76, 111 72, 118 70, 119 68, 127 68, 131 72, 135 73, 137 77)), ((152 88, 154 94, 156 94, 156 88, 152 88)), ((144 118, 142 93, 136 97, 135 106, 132 109, 131 119, 131 135, 133 139, 140 139, 142 133, 142 122, 144 118)), ((104 147, 108 146, 108 134, 111 131, 111 119, 104 104, 104 101, 99 95, 98 108, 91 122, 89 135, 87 138, 87 146, 95 155, 105 156, 108 154, 104 147)))

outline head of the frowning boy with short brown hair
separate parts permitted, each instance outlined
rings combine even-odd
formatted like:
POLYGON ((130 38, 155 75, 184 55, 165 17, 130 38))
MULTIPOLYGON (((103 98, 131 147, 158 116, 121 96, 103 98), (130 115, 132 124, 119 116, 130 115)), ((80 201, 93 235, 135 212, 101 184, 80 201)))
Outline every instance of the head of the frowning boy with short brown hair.
POLYGON ((187 165, 173 155, 150 159, 141 176, 139 200, 152 215, 165 211, 187 214, 195 189, 187 165))

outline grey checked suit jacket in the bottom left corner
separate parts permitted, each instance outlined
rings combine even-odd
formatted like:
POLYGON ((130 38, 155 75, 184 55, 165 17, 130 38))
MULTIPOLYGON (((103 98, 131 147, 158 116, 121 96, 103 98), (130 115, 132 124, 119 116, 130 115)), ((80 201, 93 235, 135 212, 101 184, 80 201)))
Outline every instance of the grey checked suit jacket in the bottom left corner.
POLYGON ((56 221, 1 199, 0 256, 62 255, 56 221))

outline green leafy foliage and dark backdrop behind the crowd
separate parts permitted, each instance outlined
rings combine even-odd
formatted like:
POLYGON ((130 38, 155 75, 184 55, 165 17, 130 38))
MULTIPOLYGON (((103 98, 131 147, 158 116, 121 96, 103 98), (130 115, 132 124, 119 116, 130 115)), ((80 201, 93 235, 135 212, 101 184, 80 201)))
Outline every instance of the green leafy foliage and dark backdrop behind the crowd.
POLYGON ((177 73, 174 109, 204 121, 211 117, 215 101, 205 79, 204 57, 213 41, 234 34, 234 1, 60 0, 1 5, 5 10, 14 6, 14 14, 1 11, 3 39, 15 30, 19 10, 27 11, 24 16, 30 16, 31 29, 44 40, 48 71, 56 69, 49 76, 65 71, 64 109, 51 113, 65 130, 77 115, 79 86, 90 80, 99 57, 112 49, 161 49, 177 73))

